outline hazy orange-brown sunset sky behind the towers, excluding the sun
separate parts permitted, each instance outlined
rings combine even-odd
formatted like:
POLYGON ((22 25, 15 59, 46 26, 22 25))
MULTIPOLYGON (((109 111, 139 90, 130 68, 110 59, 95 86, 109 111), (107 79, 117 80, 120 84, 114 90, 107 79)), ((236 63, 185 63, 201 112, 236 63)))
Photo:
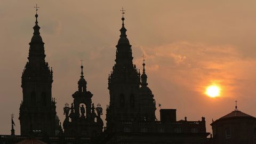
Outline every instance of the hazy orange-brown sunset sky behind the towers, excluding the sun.
MULTIPOLYGON (((134 63, 146 73, 162 108, 177 109, 177 119, 198 121, 235 109, 256 116, 256 1, 85 1, 0 0, 0 134, 10 134, 14 113, 20 133, 21 73, 27 62, 35 25, 45 43, 46 61, 53 67, 53 97, 63 122, 63 106, 73 101, 80 61, 84 60, 87 90, 101 103, 103 119, 109 103, 107 78, 115 60, 121 28, 120 10, 134 63), (221 86, 219 98, 204 94, 211 83, 221 86)), ((156 110, 159 119, 159 108, 156 110)))

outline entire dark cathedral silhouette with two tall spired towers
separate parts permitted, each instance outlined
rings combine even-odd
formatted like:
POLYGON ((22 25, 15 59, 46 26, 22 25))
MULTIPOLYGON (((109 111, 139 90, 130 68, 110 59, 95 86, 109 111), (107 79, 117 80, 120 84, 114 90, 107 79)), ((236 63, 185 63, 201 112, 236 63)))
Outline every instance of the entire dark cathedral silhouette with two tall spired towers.
MULTIPOLYGON (((122 12, 124 14, 124 11, 122 12)), ((146 63, 143 60, 142 74, 133 64, 132 46, 126 35, 124 17, 122 17, 121 35, 116 45, 115 64, 108 77, 110 101, 106 111, 106 126, 103 125, 101 118, 101 105, 94 105, 93 94, 86 89, 83 65, 78 80, 78 90, 71 95, 74 100, 63 107, 66 117, 61 124, 55 110, 55 99, 52 98, 53 70, 45 61, 44 42, 39 32, 37 13, 35 17, 28 62, 21 77, 23 94, 19 116, 21 135, 15 135, 12 121, 11 135, 1 135, 0 142, 194 144, 213 142, 212 135, 211 138, 207 138, 210 133, 206 132, 204 117, 201 121, 187 121, 187 117, 177 121, 176 109, 160 109, 160 120, 156 118, 156 102, 154 94, 148 87, 146 63)), ((247 114, 245 116, 250 117, 247 114)), ((214 127, 218 127, 219 121, 213 122, 214 127)))

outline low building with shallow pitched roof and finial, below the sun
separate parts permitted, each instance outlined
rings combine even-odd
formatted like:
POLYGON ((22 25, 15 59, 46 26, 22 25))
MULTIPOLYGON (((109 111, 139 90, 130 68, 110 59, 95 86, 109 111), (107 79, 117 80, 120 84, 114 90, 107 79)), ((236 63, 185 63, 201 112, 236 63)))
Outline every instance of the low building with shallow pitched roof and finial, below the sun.
POLYGON ((212 144, 256 143, 256 118, 239 111, 217 119, 212 124, 212 144))

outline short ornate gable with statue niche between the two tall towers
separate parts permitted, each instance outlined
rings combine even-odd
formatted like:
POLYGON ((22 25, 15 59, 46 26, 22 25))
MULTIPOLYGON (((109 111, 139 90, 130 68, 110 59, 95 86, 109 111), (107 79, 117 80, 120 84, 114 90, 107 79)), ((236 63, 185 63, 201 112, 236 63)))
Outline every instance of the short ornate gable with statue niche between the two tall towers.
POLYGON ((103 121, 100 117, 102 115, 102 108, 100 104, 96 108, 94 107, 91 99, 93 94, 86 90, 87 82, 83 76, 83 65, 81 66, 80 77, 78 91, 72 95, 74 102, 71 103, 71 107, 66 103, 63 108, 66 115, 63 122, 64 135, 95 138, 102 133, 103 129, 103 121))

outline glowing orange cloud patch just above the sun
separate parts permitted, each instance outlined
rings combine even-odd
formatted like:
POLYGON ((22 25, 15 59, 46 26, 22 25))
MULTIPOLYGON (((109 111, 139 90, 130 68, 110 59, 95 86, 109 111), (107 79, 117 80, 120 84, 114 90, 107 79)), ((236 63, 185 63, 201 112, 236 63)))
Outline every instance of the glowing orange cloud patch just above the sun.
POLYGON ((242 89, 241 82, 254 79, 248 73, 256 60, 244 58, 232 45, 181 41, 156 47, 141 46, 141 50, 146 54, 149 70, 157 69, 160 77, 191 91, 202 93, 205 86, 218 83, 225 94, 233 95, 242 89))

